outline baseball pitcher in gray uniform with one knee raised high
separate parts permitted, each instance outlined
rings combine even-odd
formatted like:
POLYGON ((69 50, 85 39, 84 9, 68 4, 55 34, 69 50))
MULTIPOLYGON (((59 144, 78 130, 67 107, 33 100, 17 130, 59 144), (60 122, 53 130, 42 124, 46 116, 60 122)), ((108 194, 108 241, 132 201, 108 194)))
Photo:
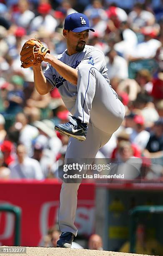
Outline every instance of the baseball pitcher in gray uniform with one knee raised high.
MULTIPOLYGON (((89 30, 94 31, 87 16, 82 13, 68 15, 63 29, 67 49, 56 57, 46 49, 44 61, 48 65, 44 74, 41 64, 33 66, 38 92, 45 95, 57 87, 72 114, 70 122, 55 125, 55 130, 70 136, 66 164, 69 159, 87 159, 87 163, 91 164, 100 147, 119 128, 125 115, 122 102, 110 86, 103 52, 86 45, 89 30)), ((58 247, 71 248, 73 238, 77 236, 74 221, 79 185, 63 181, 58 216, 62 234, 58 247)))

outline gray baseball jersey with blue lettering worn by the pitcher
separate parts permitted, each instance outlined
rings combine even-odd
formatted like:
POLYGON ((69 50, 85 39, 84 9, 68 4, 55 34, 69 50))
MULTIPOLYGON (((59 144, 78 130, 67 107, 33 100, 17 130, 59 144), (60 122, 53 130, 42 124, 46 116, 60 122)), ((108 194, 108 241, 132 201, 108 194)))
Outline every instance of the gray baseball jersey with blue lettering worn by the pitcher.
MULTIPOLYGON (((56 56, 56 58, 74 69, 78 69, 82 64, 90 64, 90 66, 92 65, 98 69, 108 82, 108 85, 110 85, 105 56, 99 49, 86 45, 81 52, 69 56, 66 54, 65 50, 62 54, 56 56)), ((53 87, 56 86, 58 88, 66 108, 73 114, 77 96, 77 86, 65 80, 50 64, 47 65, 44 76, 53 87)))

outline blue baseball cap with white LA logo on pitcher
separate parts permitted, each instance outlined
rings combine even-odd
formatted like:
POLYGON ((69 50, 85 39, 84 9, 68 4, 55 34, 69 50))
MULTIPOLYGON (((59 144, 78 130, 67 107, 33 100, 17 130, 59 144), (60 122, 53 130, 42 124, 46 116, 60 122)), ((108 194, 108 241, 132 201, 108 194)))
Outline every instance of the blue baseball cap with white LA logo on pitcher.
POLYGON ((83 13, 69 14, 65 18, 64 29, 68 29, 76 33, 82 32, 87 29, 95 32, 93 28, 90 28, 88 17, 83 13))

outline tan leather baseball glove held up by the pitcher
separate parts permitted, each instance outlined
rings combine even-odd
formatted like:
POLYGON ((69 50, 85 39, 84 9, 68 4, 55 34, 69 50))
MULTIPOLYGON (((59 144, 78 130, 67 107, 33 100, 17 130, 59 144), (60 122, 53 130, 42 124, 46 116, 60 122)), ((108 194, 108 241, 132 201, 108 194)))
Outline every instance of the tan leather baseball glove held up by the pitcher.
POLYGON ((20 51, 21 67, 26 69, 41 63, 47 52, 50 53, 50 50, 43 46, 37 38, 28 40, 20 51))

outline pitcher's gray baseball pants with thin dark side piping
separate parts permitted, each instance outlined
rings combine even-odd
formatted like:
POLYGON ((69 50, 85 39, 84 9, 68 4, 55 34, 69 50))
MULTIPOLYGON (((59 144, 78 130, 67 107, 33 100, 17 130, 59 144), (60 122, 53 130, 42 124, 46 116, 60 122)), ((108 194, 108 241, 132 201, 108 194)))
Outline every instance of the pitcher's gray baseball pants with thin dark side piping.
MULTIPOLYGON (((83 142, 70 138, 65 164, 70 163, 72 159, 80 159, 81 163, 84 161, 85 164, 92 164, 100 147, 109 141, 122 123, 125 108, 103 75, 90 64, 79 67, 77 90, 75 113, 72 114, 83 123, 89 123, 88 133, 83 142)), ((60 191, 58 216, 60 231, 71 232, 75 236, 78 232, 74 221, 79 186, 80 183, 63 182, 60 191)))

